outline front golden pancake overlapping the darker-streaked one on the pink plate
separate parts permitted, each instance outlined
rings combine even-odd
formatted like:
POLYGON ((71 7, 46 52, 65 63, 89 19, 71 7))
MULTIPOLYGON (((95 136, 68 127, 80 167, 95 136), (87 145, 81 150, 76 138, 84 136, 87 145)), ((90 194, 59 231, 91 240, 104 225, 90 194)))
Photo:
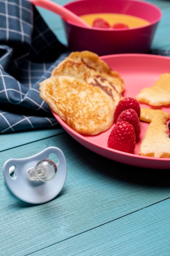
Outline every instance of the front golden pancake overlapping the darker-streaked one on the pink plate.
POLYGON ((52 76, 39 90, 50 108, 82 135, 97 135, 113 124, 115 103, 100 87, 71 76, 52 76))

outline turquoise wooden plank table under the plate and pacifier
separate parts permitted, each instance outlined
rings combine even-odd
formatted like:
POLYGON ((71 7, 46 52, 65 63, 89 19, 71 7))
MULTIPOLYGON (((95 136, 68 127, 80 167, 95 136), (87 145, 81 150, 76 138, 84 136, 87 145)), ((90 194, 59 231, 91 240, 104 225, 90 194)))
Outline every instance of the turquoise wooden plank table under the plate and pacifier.
MULTIPOLYGON (((66 0, 57 0, 63 5, 66 0)), ((152 49, 170 49, 170 1, 150 0, 161 8, 152 49)), ((66 44, 60 17, 38 8, 66 44)), ((169 256, 170 174, 127 166, 101 157, 62 128, 0 135, 1 256, 169 256), (7 159, 59 147, 67 161, 60 194, 35 205, 7 188, 2 166, 7 159)))

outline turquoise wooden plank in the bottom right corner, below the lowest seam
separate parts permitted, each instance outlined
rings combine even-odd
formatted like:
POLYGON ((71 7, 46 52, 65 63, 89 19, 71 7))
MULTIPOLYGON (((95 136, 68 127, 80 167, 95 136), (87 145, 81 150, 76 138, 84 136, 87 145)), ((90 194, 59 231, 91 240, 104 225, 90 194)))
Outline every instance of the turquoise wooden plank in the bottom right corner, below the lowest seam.
POLYGON ((73 236, 31 255, 168 256, 170 199, 73 236))

